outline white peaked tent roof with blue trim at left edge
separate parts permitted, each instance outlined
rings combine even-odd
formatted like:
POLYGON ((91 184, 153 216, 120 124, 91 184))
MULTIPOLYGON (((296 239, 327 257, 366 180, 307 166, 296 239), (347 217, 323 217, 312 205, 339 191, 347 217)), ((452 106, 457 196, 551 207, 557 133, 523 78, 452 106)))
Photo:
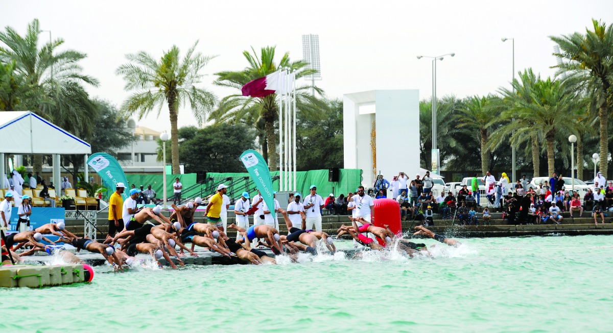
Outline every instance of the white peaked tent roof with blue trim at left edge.
POLYGON ((91 154, 89 143, 32 111, 0 112, 1 151, 12 154, 91 154))

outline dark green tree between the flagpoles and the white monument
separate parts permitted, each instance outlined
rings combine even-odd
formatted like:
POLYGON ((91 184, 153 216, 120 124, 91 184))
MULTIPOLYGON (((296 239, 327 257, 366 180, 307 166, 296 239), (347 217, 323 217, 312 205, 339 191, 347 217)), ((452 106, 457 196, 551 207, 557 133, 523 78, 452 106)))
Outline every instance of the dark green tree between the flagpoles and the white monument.
POLYGON ((343 167, 343 102, 329 100, 326 119, 300 113, 296 122, 298 171, 343 167))

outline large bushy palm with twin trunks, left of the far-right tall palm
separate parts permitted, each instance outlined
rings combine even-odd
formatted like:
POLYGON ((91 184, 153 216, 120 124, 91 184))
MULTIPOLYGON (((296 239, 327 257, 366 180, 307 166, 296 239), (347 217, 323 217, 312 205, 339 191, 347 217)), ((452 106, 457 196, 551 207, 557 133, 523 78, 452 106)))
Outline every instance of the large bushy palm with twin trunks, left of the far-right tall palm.
MULTIPOLYGON (((577 109, 582 107, 582 99, 571 89, 566 88, 560 81, 541 80, 532 69, 520 73, 520 83, 517 79, 512 82, 516 92, 500 89, 504 96, 504 103, 508 110, 504 111, 503 118, 514 121, 501 127, 501 130, 492 135, 490 144, 495 148, 500 144, 501 138, 509 133, 511 144, 519 144, 531 140, 533 145, 533 162, 538 159, 535 154, 538 138, 543 137, 547 147, 547 172, 553 174, 555 138, 558 133, 576 133, 576 125, 568 119, 573 119, 577 109), (496 143, 498 141, 498 143, 496 143)), ((538 170, 535 167, 535 176, 538 170)))

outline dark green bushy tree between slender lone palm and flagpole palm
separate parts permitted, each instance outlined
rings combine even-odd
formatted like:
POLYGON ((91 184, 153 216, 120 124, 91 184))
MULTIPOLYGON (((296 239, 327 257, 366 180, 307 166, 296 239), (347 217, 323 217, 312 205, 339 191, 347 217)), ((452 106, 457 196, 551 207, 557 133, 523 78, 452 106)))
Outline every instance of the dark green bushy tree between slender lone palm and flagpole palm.
POLYGON ((179 155, 188 173, 204 170, 208 172, 245 172, 240 154, 253 149, 256 135, 246 125, 215 124, 197 129, 182 127, 181 133, 190 133, 181 141, 179 155))

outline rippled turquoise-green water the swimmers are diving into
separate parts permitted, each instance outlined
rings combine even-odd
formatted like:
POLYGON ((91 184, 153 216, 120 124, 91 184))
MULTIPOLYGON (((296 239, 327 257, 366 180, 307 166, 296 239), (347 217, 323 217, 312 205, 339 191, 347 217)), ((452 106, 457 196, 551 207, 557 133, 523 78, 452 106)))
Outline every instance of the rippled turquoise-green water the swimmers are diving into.
POLYGON ((410 260, 97 267, 91 285, 0 290, 0 332, 613 331, 613 236, 461 241, 410 260))

